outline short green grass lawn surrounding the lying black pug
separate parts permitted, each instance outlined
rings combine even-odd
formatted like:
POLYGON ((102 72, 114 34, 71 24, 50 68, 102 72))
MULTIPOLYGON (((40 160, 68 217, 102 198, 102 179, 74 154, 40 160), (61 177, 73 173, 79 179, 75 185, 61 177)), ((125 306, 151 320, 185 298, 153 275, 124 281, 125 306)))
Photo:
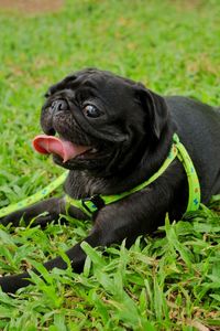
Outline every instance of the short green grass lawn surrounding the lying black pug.
MULTIPOLYGON (((72 71, 107 68, 220 105, 219 15, 218 0, 68 0, 53 14, 0 12, 0 206, 62 173, 31 139, 43 94, 72 71)), ((84 238, 89 222, 1 226, 1 274, 33 265, 46 281, 32 275, 34 285, 14 297, 0 292, 0 330, 220 330, 220 196, 210 206, 166 220, 129 250, 84 245, 81 275, 48 274, 41 263, 84 238)))

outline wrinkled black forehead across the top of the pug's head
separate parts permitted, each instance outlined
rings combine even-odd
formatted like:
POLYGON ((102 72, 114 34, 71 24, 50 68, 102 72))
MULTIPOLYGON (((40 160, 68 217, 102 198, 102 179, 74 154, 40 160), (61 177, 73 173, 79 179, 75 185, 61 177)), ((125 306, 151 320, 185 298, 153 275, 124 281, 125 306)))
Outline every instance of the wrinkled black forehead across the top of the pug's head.
POLYGON ((79 88, 91 88, 92 90, 112 95, 113 97, 116 94, 124 94, 134 84, 134 82, 110 72, 89 68, 68 75, 63 81, 51 86, 46 96, 64 89, 77 90, 79 88))

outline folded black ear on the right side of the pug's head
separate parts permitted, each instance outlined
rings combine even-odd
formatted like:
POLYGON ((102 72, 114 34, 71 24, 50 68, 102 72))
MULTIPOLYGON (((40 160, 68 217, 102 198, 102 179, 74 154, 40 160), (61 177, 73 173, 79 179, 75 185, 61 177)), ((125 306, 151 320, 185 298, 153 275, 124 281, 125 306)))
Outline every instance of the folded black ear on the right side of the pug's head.
POLYGON ((160 139, 168 119, 168 108, 165 99, 156 93, 145 88, 141 83, 135 86, 136 97, 148 117, 153 135, 160 139))

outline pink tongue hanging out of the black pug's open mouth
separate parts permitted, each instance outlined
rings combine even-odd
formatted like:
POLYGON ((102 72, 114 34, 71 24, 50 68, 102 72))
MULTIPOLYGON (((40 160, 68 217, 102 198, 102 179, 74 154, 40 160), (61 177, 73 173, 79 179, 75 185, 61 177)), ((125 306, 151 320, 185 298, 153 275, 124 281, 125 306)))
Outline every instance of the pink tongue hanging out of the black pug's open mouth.
POLYGON ((66 162, 84 153, 88 146, 78 146, 67 140, 62 140, 54 136, 40 135, 33 139, 34 149, 42 154, 57 154, 66 162))

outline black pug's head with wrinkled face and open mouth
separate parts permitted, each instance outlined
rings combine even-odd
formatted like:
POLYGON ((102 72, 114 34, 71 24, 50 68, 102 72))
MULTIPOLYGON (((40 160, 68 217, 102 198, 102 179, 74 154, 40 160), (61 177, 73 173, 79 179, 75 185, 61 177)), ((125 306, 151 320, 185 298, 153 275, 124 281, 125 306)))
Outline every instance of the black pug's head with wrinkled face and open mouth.
POLYGON ((57 136, 66 157, 51 150, 67 169, 110 174, 135 163, 160 140, 167 124, 164 99, 142 84, 87 68, 46 93, 41 125, 57 136))

